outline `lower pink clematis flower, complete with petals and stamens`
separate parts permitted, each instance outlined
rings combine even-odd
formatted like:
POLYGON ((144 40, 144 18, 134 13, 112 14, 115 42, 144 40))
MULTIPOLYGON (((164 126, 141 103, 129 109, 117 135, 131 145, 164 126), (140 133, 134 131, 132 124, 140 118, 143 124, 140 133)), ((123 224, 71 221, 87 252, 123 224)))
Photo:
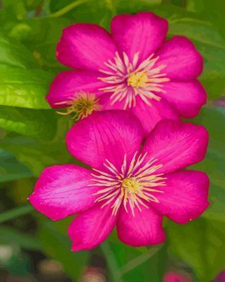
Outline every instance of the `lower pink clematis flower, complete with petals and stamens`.
POLYGON ((127 111, 101 111, 79 121, 66 137, 68 150, 91 168, 73 164, 44 169, 31 204, 53 220, 78 214, 68 233, 72 250, 99 245, 117 226, 123 243, 162 243, 162 216, 188 223, 208 207, 209 180, 181 169, 201 161, 204 127, 163 120, 144 137, 127 111))

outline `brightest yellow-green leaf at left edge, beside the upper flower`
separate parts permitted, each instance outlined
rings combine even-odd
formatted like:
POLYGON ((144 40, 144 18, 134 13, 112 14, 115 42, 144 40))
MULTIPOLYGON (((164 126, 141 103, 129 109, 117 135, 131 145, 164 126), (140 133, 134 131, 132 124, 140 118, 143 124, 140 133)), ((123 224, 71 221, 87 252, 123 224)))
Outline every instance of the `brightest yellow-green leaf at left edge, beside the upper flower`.
POLYGON ((45 96, 52 78, 37 69, 0 68, 0 105, 49 109, 45 96))

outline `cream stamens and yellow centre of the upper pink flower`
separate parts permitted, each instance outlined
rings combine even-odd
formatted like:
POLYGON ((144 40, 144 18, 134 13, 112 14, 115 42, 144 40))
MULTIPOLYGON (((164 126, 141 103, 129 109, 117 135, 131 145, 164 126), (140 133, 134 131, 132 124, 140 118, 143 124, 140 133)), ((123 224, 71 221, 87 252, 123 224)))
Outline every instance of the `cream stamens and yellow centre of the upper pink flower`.
POLYGON ((166 78, 166 73, 162 70, 166 65, 155 66, 159 56, 155 57, 154 54, 140 63, 138 58, 139 52, 134 54, 133 60, 130 60, 125 52, 123 56, 116 52, 114 61, 108 60, 104 63, 108 70, 99 70, 104 73, 104 78, 98 79, 109 84, 99 90, 111 93, 111 105, 124 101, 123 109, 130 108, 136 105, 137 96, 151 105, 150 99, 161 99, 157 92, 165 93, 162 87, 169 78, 166 78))

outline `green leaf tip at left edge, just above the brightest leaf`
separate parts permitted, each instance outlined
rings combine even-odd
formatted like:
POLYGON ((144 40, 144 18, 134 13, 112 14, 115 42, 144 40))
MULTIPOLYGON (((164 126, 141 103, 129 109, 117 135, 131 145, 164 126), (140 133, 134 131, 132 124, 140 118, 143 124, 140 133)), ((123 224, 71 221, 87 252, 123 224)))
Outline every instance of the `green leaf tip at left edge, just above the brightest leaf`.
POLYGON ((0 34, 0 66, 2 64, 35 68, 37 61, 23 44, 0 34))

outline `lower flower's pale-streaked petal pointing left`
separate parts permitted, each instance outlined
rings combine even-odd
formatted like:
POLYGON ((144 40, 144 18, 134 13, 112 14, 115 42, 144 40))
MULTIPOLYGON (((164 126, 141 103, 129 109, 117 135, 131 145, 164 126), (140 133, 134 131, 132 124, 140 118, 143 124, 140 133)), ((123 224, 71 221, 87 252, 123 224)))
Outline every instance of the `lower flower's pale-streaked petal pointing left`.
POLYGON ((59 220, 83 212, 95 204, 92 196, 99 188, 92 184, 91 171, 73 164, 45 168, 29 200, 35 209, 50 219, 59 220))

